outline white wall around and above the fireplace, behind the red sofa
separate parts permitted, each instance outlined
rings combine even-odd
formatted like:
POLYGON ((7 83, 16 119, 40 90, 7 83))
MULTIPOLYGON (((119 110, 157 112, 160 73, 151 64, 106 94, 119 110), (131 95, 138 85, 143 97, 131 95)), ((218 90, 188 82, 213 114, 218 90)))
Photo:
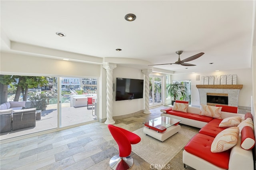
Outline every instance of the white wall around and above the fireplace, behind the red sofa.
POLYGON ((194 106, 200 106, 199 92, 196 85, 200 84, 200 81, 196 81, 196 75, 237 75, 237 84, 243 85, 243 88, 239 92, 238 106, 251 107, 252 96, 252 69, 234 69, 228 71, 218 72, 204 72, 204 73, 190 73, 190 74, 176 74, 172 75, 172 81, 175 80, 191 80, 191 104, 194 106))

